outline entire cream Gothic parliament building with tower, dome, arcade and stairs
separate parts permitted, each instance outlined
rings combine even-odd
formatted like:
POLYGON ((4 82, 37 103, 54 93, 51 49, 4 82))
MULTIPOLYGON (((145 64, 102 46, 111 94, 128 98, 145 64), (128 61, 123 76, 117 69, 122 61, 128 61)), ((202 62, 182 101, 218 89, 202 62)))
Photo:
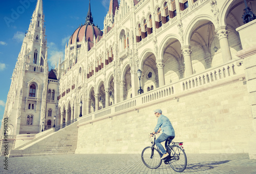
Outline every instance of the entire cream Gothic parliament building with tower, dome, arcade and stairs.
POLYGON ((256 1, 111 0, 103 30, 89 1, 54 69, 42 4, 13 71, 2 155, 6 141, 9 157, 138 154, 161 108, 186 153, 256 159, 256 1))

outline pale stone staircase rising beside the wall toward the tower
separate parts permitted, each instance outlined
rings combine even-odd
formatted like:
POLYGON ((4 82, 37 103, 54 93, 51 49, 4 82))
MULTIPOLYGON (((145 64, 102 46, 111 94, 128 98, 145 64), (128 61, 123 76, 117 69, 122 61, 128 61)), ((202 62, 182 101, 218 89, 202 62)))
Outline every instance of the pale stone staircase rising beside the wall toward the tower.
POLYGON ((77 147, 77 124, 70 124, 58 132, 52 129, 48 134, 10 150, 9 157, 74 154, 77 147))

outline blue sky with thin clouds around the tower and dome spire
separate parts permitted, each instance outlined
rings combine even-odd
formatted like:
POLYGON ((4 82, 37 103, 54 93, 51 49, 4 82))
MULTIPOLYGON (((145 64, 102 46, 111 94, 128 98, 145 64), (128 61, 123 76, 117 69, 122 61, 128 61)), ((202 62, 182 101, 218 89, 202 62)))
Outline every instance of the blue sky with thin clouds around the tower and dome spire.
MULTIPOLYGON (((42 0, 48 45, 49 67, 63 59, 69 37, 86 21, 89 0, 42 0)), ((35 10, 37 0, 0 2, 0 119, 2 121, 11 76, 22 47, 25 32, 35 10)), ((95 25, 103 30, 110 0, 92 0, 91 11, 95 25)), ((1 122, 0 122, 1 126, 1 122)))

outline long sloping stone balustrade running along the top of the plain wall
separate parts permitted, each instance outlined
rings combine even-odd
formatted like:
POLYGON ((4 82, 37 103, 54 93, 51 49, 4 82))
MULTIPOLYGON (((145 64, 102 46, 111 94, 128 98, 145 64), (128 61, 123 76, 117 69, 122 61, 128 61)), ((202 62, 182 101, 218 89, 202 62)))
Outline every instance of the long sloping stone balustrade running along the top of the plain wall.
POLYGON ((188 94, 189 90, 191 90, 191 93, 193 93, 193 89, 206 84, 225 84, 228 80, 222 80, 224 78, 230 78, 231 81, 233 80, 232 78, 236 77, 240 79, 244 76, 244 71, 242 66, 236 66, 237 61, 239 60, 231 60, 219 67, 210 68, 202 73, 191 75, 177 82, 166 84, 155 90, 103 108, 100 111, 84 115, 77 120, 79 121, 79 125, 93 123, 99 119, 112 118, 112 116, 118 115, 122 112, 136 110, 141 107, 141 105, 152 104, 152 102, 159 102, 160 100, 177 99, 180 96, 183 96, 184 92, 188 94), (219 82, 216 83, 216 81, 219 82))

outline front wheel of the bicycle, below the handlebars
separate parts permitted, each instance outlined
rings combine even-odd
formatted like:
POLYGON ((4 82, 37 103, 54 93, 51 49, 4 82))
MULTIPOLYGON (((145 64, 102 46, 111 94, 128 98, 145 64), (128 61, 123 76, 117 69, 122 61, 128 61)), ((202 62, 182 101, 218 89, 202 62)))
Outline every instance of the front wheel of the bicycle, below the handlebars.
POLYGON ((158 168, 162 164, 161 155, 155 147, 145 147, 141 153, 141 159, 148 168, 158 168))

